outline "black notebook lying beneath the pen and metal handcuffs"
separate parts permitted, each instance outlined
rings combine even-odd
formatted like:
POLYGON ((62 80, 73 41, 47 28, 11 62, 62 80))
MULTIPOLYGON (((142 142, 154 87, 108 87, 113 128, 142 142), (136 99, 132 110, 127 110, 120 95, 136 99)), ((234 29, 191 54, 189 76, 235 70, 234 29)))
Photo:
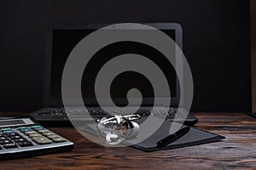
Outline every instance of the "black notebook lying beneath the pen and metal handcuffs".
MULTIPOLYGON (((137 121, 138 123, 143 122, 143 120, 137 121)), ((189 132, 183 135, 181 138, 175 140, 171 144, 166 145, 165 147, 159 148, 157 147, 157 142, 160 139, 164 139, 167 136, 169 136, 170 133, 170 127, 172 126, 172 123, 178 124, 177 122, 163 122, 163 124, 160 126, 160 128, 153 133, 148 139, 143 140, 143 142, 140 142, 138 144, 134 144, 134 139, 126 139, 125 144, 129 144, 131 147, 136 148, 138 150, 143 151, 156 151, 156 150, 171 150, 176 148, 182 148, 182 147, 188 147, 198 144, 207 144, 212 142, 217 142, 221 139, 224 139, 223 136, 220 136, 215 133, 208 133, 203 130, 199 130, 195 127, 190 127, 189 132), (132 144, 132 145, 131 145, 132 144)), ((81 130, 84 130, 87 133, 97 134, 95 130, 96 129, 94 125, 88 124, 86 128, 81 128, 81 130)), ((182 126, 186 127, 185 125, 182 126)))

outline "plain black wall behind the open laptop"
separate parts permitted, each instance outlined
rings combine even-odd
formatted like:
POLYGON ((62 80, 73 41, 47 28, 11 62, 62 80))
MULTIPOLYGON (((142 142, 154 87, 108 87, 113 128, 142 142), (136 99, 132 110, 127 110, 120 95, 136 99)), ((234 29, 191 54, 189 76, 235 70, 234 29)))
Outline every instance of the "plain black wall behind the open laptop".
POLYGON ((97 22, 180 23, 192 111, 251 111, 248 0, 1 1, 0 111, 42 107, 49 28, 97 22))

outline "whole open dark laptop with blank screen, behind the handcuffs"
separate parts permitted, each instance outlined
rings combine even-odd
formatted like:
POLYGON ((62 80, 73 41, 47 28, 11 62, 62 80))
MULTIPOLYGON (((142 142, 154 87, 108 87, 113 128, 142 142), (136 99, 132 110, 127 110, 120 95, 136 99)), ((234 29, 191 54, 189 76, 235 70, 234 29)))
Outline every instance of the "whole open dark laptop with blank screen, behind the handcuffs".
MULTIPOLYGON (((84 37, 89 35, 91 32, 96 31, 104 26, 109 26, 110 24, 86 24, 83 26, 61 26, 52 29, 49 31, 49 40, 47 43, 47 58, 45 60, 45 77, 44 77, 44 108, 40 109, 38 111, 32 112, 33 118, 43 124, 44 126, 69 126, 71 123, 68 120, 67 113, 65 109, 63 108, 63 103, 61 99, 61 77, 62 77, 62 71, 64 69, 64 65, 67 61, 67 58, 73 48, 76 46, 76 44, 82 40, 84 37)), ((160 31, 163 31, 166 33, 167 36, 172 37, 172 40, 174 40, 179 48, 183 48, 183 33, 182 33, 182 27, 178 25, 177 23, 145 23, 145 25, 153 26, 160 31)), ((126 44, 125 49, 129 52, 129 44, 126 44)), ((131 47, 130 47, 131 48, 131 47)), ((123 48, 114 48, 114 51, 121 51, 123 48)), ((150 52, 150 48, 140 48, 137 47, 132 48, 131 50, 139 50, 139 54, 146 55, 153 55, 150 52)), ((109 49, 106 51, 106 54, 113 53, 113 49, 109 49)), ((104 57, 104 56, 102 56, 104 57)), ((154 58, 157 58, 157 56, 151 56, 154 58)), ((179 68, 183 68, 183 62, 182 59, 176 59, 176 65, 179 65, 179 68)), ((101 62, 101 59, 98 59, 96 62, 101 62)), ((154 93, 152 93, 150 90, 151 88, 148 88, 148 85, 146 84, 147 81, 142 81, 140 77, 130 77, 128 76, 127 80, 119 81, 119 86, 122 88, 115 88, 116 90, 113 90, 113 94, 111 94, 111 97, 113 99, 113 103, 120 106, 122 108, 122 105, 127 105, 127 99, 126 94, 120 92, 123 88, 131 88, 133 82, 140 82, 138 88, 143 88, 143 102, 140 105, 139 110, 135 110, 137 108, 137 96, 132 96, 131 99, 129 99, 129 102, 134 103, 134 107, 126 107, 125 110, 120 109, 119 111, 113 110, 112 105, 108 105, 108 103, 105 105, 105 110, 103 111, 102 108, 98 105, 97 100, 94 95, 91 94, 92 91, 94 91, 93 86, 85 86, 86 88, 82 88, 82 94, 83 96, 86 96, 86 110, 84 110, 79 105, 71 105, 73 114, 90 114, 89 116, 97 119, 100 119, 102 116, 106 116, 106 106, 108 112, 116 113, 119 112, 125 113, 125 114, 140 114, 141 116, 148 116, 148 115, 154 115, 154 116, 165 116, 167 121, 173 121, 175 114, 177 114, 177 106, 182 106, 182 101, 180 101, 180 87, 183 86, 183 81, 178 82, 175 70, 172 68, 172 65, 166 65, 165 62, 161 62, 160 59, 158 59, 159 65, 164 68, 164 71, 166 72, 166 78, 170 79, 170 82, 172 82, 171 85, 171 107, 170 105, 161 105, 161 103, 154 103, 155 98, 165 99, 170 98, 166 96, 165 94, 161 94, 161 96, 154 96, 154 93), (143 84, 145 83, 145 84, 143 84), (85 95, 86 94, 86 95, 85 95), (156 110, 152 111, 152 105, 159 105, 156 106, 156 110)), ((93 70, 92 70, 93 71, 93 70)), ((84 77, 82 78, 82 85, 83 83, 86 85, 86 82, 84 82, 84 77)), ((88 80, 87 80, 88 82, 88 80)), ((91 84, 91 83, 88 83, 91 84)), ((101 96, 102 99, 104 96, 101 96)), ((107 99, 108 100, 108 99, 107 99)), ((86 118, 85 118, 86 119, 86 118)), ((85 120, 86 121, 86 120, 85 120)), ((194 125, 198 119, 191 113, 189 113, 189 116, 187 116, 186 120, 184 121, 184 124, 186 125, 194 125)))

